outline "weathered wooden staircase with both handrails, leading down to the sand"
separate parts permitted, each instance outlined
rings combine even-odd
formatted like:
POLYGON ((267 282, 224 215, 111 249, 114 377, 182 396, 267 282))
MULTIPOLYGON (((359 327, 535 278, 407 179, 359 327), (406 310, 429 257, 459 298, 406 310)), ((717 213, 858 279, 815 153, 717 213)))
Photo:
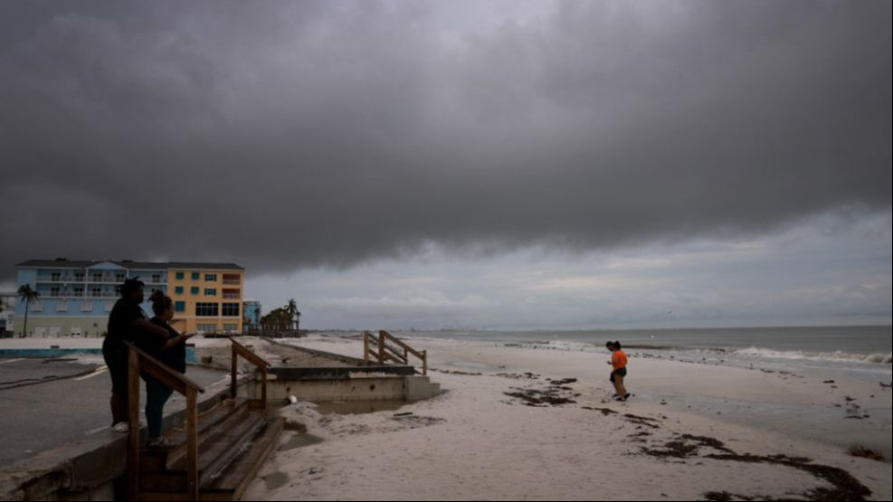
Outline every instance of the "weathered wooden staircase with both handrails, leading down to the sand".
MULTIPOLYGON (((261 388, 265 391, 269 365, 233 340, 233 368, 240 356, 261 370, 261 388)), ((130 500, 240 500, 275 449, 284 428, 284 421, 271 418, 267 412, 266 392, 257 400, 235 399, 233 393, 230 399, 198 415, 195 395, 204 393, 204 389, 183 375, 166 374, 166 367, 156 367, 160 363, 136 347, 131 347, 131 362, 137 363, 138 371, 175 378, 182 384, 181 388, 172 388, 185 391, 187 421, 166 432, 164 438, 170 442, 166 449, 142 448, 140 440, 134 442, 138 435, 132 435, 130 500)), ((233 369, 233 388, 235 377, 233 369)))

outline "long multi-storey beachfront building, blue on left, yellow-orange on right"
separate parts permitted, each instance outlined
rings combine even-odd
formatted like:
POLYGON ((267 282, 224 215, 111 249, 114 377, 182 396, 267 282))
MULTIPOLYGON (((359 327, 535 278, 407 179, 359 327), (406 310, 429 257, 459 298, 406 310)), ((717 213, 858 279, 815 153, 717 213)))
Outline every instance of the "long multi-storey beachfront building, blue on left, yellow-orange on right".
MULTIPOLYGON (((139 263, 124 261, 31 260, 16 267, 18 285, 30 285, 41 299, 30 306, 27 336, 104 336, 118 287, 139 278, 148 298, 163 291, 174 300, 173 326, 185 333, 242 331, 242 267, 222 263, 139 263)), ((151 305, 143 310, 151 315, 151 305)), ((16 302, 15 334, 24 329, 16 302)))

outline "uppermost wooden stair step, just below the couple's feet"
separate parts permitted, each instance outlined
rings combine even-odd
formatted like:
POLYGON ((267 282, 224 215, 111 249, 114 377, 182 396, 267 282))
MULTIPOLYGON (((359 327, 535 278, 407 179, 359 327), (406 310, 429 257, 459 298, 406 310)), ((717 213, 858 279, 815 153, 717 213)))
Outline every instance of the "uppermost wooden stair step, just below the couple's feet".
MULTIPOLYGON (((233 421, 235 415, 244 413, 248 406, 247 400, 231 399, 217 404, 208 412, 200 415, 198 417, 199 450, 206 448, 203 439, 207 439, 215 432, 220 431, 222 427, 226 427, 228 421, 233 421)), ((169 440, 172 446, 164 449, 147 447, 146 450, 143 450, 140 465, 142 472, 164 472, 171 469, 176 462, 185 459, 188 446, 185 423, 167 431, 162 437, 169 440)))

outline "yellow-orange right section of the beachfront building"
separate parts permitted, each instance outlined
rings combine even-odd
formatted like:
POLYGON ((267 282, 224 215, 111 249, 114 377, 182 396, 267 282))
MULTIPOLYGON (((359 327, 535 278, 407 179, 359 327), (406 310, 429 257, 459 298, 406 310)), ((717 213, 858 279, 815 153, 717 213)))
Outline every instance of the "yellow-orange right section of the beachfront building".
POLYGON ((232 264, 177 263, 168 272, 173 327, 181 333, 241 333, 245 270, 232 264), (175 268, 176 267, 176 268, 175 268))

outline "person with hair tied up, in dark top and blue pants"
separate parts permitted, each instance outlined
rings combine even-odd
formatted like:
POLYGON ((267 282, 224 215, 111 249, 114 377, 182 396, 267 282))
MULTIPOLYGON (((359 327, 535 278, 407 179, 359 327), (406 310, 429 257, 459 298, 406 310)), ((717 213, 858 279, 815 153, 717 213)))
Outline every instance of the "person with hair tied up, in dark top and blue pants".
MULTIPOLYGON (((167 365, 179 374, 186 373, 186 341, 191 336, 180 335, 170 326, 174 320, 174 301, 161 291, 156 291, 149 298, 152 302, 152 324, 165 330, 166 336, 146 338, 140 346, 148 355, 159 363, 167 365)), ((170 445, 161 438, 165 418, 165 405, 174 395, 174 390, 148 374, 143 375, 146 381, 146 419, 148 421, 149 446, 166 448, 170 445)))

